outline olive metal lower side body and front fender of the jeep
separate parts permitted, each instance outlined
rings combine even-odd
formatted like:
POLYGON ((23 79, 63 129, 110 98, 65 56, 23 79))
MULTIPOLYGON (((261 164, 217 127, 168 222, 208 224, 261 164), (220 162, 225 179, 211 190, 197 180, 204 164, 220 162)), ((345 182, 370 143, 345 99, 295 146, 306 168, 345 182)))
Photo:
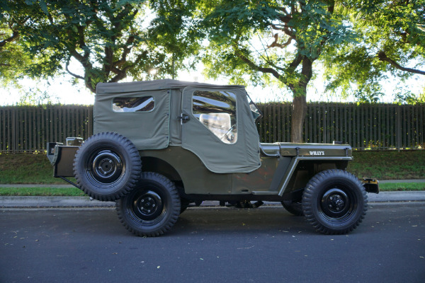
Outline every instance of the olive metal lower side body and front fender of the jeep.
MULTIPOLYGON (((338 150, 346 152, 346 145, 332 147, 331 144, 324 146, 334 154, 338 150)), ((304 147, 305 151, 307 149, 304 147)), ((316 146, 312 146, 312 149, 316 149, 316 146)), ((345 169, 352 159, 351 156, 262 155, 260 168, 250 173, 214 173, 203 166, 198 156, 181 146, 140 151, 140 156, 144 171, 158 172, 170 180, 181 182, 187 195, 267 195, 268 200, 276 201, 284 193, 305 187, 319 171, 345 169)))

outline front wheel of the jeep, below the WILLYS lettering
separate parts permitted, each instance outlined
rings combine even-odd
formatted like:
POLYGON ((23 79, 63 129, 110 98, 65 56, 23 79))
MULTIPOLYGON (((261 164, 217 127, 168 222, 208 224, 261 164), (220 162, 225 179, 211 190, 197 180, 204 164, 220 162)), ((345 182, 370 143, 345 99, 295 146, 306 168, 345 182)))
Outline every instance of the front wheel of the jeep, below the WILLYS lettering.
POLYGON ((307 221, 325 234, 346 234, 363 221, 367 196, 351 173, 333 169, 314 175, 302 195, 307 221))

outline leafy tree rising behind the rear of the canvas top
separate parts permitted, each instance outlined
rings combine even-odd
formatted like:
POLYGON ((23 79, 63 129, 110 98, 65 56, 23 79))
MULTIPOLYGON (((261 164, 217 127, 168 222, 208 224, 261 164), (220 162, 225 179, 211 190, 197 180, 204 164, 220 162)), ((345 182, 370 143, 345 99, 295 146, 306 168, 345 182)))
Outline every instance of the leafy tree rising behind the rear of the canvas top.
MULTIPOLYGON (((166 11, 160 5, 164 1, 11 2, 28 17, 18 25, 18 33, 26 52, 36 59, 27 70, 31 76, 47 78, 66 72, 84 80, 86 87, 95 92, 98 82, 171 74, 190 52, 181 45, 164 45, 169 39, 166 34, 160 36, 167 28, 160 22, 166 11), (151 4, 157 5, 157 11, 150 8, 151 4)), ((174 33, 170 34, 176 35, 181 29, 179 21, 172 28, 174 33)))

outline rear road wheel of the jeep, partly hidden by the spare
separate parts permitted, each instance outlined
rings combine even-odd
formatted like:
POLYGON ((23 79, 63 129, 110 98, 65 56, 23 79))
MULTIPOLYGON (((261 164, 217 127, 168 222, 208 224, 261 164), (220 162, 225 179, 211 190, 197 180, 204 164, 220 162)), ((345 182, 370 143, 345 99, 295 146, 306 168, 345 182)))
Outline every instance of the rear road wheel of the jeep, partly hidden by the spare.
POLYGON ((135 190, 116 202, 120 222, 137 236, 162 235, 176 224, 180 214, 176 185, 158 173, 142 173, 135 190))

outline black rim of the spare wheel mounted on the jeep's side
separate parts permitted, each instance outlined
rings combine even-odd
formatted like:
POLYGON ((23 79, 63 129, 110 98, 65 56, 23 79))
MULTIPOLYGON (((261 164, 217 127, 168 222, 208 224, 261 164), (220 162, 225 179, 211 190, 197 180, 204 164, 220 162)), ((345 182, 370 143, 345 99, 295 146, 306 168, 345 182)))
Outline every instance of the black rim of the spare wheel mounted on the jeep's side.
POLYGON ((125 162, 123 156, 111 149, 97 149, 87 158, 85 169, 91 182, 113 185, 123 179, 125 162))

